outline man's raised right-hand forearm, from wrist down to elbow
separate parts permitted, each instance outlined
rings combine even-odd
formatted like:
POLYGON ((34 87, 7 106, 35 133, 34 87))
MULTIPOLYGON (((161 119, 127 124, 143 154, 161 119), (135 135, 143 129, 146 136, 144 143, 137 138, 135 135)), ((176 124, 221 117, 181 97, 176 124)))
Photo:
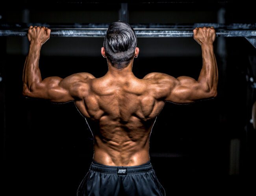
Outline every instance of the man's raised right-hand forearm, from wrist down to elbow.
POLYGON ((207 91, 217 91, 218 68, 213 44, 202 44, 202 70, 198 82, 207 87, 207 91))

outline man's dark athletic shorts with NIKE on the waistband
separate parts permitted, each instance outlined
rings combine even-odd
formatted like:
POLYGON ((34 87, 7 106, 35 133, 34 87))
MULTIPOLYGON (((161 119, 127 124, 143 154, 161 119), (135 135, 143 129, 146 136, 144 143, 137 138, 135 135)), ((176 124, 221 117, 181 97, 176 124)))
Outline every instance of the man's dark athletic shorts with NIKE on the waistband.
POLYGON ((150 161, 137 166, 108 166, 93 161, 77 196, 165 196, 150 161))

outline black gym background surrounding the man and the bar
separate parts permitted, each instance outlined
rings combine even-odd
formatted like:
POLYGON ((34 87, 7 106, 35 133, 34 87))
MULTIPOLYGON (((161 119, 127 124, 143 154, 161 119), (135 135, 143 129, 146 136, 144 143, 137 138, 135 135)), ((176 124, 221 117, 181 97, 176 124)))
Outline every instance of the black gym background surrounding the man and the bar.
MULTIPOLYGON (((256 22, 249 2, 149 2, 128 4, 129 23, 218 23, 221 9, 226 24, 256 22)), ((119 3, 100 1, 0 5, 1 23, 111 23, 119 20, 120 9, 119 3)), ((220 77, 217 98, 189 105, 166 103, 151 134, 151 162, 167 196, 173 191, 203 192, 202 188, 207 188, 206 195, 221 189, 245 190, 243 182, 256 174, 256 137, 249 123, 255 98, 246 80, 253 58, 255 65, 256 49, 245 38, 224 38, 223 62, 217 52, 218 39, 214 43, 220 77)), ((100 54, 103 40, 50 38, 39 62, 43 78, 76 72, 103 76, 107 71, 106 59, 100 54)), ((28 41, 0 37, 0 43, 4 195, 75 195, 92 161, 91 132, 74 103, 22 97, 28 41)), ((193 38, 138 38, 138 47, 133 68, 137 77, 162 72, 197 79, 202 57, 193 38)))

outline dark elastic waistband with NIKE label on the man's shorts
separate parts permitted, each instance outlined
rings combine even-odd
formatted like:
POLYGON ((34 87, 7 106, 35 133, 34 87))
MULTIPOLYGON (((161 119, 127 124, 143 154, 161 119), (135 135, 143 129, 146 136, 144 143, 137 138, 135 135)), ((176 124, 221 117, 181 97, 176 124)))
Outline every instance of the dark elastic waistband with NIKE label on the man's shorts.
POLYGON ((101 163, 97 163, 93 160, 93 162, 91 163, 90 169, 98 172, 126 175, 126 174, 151 171, 152 164, 150 163, 150 161, 148 161, 143 165, 136 165, 136 166, 110 166, 110 165, 103 165, 101 163))

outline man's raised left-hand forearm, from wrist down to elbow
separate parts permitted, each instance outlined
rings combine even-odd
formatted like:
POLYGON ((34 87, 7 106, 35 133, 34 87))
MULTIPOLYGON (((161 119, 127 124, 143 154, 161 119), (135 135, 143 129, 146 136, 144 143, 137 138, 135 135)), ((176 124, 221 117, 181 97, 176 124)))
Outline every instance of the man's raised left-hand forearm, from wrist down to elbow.
POLYGON ((31 91, 33 85, 42 81, 39 69, 41 44, 30 43, 30 49, 23 70, 23 91, 31 91))

